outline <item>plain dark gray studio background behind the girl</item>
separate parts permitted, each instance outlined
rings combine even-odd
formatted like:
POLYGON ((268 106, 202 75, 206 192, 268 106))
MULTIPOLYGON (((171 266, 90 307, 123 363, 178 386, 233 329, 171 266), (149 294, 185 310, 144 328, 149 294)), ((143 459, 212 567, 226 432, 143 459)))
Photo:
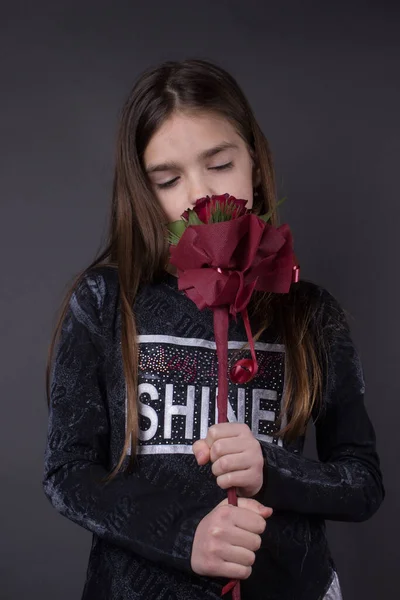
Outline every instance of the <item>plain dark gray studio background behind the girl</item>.
POLYGON ((329 534, 345 600, 396 597, 396 4, 2 3, 2 600, 80 597, 90 534, 41 489, 47 343, 66 283, 104 234, 118 111, 142 69, 188 56, 218 61, 244 88, 288 196, 281 215, 303 276, 354 317, 387 498, 371 521, 329 524, 329 534))

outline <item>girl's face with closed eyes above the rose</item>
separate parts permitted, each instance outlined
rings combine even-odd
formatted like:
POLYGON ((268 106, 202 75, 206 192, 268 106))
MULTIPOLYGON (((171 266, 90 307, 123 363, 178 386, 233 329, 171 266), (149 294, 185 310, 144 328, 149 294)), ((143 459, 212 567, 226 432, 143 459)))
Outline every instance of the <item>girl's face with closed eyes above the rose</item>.
POLYGON ((175 113, 151 138, 144 164, 167 222, 203 196, 229 193, 253 206, 258 172, 247 144, 224 117, 175 113))

